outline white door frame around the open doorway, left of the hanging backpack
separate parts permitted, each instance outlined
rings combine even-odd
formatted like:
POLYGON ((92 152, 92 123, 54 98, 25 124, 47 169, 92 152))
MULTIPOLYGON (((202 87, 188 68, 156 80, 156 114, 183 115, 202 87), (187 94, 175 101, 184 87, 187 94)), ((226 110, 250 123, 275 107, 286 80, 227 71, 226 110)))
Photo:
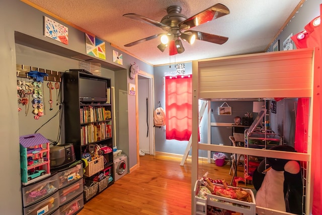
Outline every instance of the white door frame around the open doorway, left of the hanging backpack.
MULTIPOLYGON (((145 71, 139 70, 138 76, 144 77, 148 79, 148 123, 149 127, 153 128, 152 125, 154 125, 153 122, 153 112, 154 112, 154 76, 151 74, 146 73, 145 71)), ((138 89, 138 77, 135 79, 135 86, 136 89, 138 89)), ((139 163, 139 114, 138 114, 138 93, 135 95, 135 108, 136 108, 136 147, 137 147, 137 161, 139 163)), ((149 135, 149 148, 150 148, 150 155, 155 154, 155 141, 154 141, 154 129, 149 129, 148 131, 149 135)))

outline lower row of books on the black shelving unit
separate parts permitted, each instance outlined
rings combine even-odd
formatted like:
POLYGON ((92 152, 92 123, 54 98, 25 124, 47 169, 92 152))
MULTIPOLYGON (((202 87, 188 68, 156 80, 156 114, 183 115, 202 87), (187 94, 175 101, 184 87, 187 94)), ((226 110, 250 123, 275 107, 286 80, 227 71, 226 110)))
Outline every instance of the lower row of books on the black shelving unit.
POLYGON ((81 146, 112 137, 112 123, 100 122, 81 126, 81 146))

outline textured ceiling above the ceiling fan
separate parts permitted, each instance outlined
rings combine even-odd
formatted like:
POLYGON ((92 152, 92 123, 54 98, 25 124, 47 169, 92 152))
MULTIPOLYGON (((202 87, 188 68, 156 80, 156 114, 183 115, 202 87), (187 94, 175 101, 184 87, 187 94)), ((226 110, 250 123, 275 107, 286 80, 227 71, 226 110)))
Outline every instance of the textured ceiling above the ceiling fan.
POLYGON ((133 56, 153 65, 196 59, 264 52, 280 29, 293 16, 303 0, 24 0, 110 42, 133 56), (193 45, 183 41, 185 51, 169 56, 161 52, 155 38, 144 43, 124 45, 148 36, 165 33, 161 28, 123 17, 135 13, 160 22, 169 6, 182 7, 182 14, 192 17, 217 4, 225 5, 230 14, 202 24, 192 30, 228 37, 222 45, 197 40, 193 45))

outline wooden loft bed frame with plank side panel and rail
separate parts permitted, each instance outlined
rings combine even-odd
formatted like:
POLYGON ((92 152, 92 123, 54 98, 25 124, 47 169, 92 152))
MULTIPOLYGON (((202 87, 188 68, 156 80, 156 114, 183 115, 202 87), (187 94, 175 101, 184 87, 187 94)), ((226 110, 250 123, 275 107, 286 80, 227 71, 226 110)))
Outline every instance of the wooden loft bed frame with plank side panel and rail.
MULTIPOLYGON (((245 98, 310 98, 314 80, 314 50, 296 49, 289 51, 219 57, 192 62, 193 103, 192 103, 192 214, 196 207, 203 205, 194 192, 198 175, 198 151, 215 151, 244 154, 258 157, 296 160, 306 163, 305 211, 311 211, 311 132, 312 116, 309 115, 307 153, 270 151, 254 148, 234 148, 198 142, 198 100, 216 101, 223 99, 243 100, 245 98)), ((312 99, 310 111, 312 110, 312 99)), ((209 136, 209 134, 208 134, 209 136)), ((270 208, 257 207, 259 214, 289 214, 270 208)), ((203 214, 203 213, 201 213, 203 214)))

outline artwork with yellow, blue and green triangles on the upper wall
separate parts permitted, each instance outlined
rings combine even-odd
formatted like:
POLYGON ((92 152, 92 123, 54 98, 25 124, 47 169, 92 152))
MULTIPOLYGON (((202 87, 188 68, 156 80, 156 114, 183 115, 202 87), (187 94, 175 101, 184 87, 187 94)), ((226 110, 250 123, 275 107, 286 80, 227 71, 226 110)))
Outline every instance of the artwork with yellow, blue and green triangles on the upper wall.
POLYGON ((106 59, 105 42, 89 34, 86 36, 86 53, 94 57, 106 59))

